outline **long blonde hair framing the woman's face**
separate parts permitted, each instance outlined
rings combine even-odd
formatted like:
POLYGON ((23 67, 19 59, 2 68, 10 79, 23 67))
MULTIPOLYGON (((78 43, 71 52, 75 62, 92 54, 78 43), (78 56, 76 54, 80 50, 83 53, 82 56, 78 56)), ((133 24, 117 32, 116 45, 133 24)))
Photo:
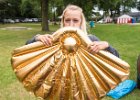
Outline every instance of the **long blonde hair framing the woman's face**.
POLYGON ((76 5, 68 5, 68 6, 64 9, 64 11, 63 11, 63 13, 62 13, 62 18, 61 18, 61 27, 64 27, 64 15, 65 15, 66 11, 68 11, 68 10, 77 10, 77 11, 80 11, 80 13, 81 13, 81 19, 82 19, 81 27, 80 27, 80 28, 81 28, 81 30, 82 30, 85 34, 87 34, 86 19, 85 19, 85 16, 84 16, 84 14, 83 14, 83 10, 82 10, 80 7, 76 6, 76 5))

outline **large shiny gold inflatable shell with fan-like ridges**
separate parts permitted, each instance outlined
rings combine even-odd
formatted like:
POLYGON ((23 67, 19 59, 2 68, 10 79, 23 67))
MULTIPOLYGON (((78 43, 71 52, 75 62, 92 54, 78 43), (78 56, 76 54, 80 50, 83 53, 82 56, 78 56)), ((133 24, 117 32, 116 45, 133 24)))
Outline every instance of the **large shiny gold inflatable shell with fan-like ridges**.
POLYGON ((91 54, 80 29, 53 34, 53 45, 35 42, 14 50, 12 66, 24 87, 49 100, 96 100, 128 78, 129 65, 107 51, 91 54))

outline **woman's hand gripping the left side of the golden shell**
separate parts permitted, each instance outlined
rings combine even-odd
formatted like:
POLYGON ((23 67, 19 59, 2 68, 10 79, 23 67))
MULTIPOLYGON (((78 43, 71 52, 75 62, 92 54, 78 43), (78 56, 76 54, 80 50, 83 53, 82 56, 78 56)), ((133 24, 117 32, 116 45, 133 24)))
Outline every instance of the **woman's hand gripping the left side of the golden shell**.
POLYGON ((41 41, 42 43, 44 43, 47 46, 52 45, 52 36, 49 34, 38 35, 35 39, 36 39, 36 41, 41 41))

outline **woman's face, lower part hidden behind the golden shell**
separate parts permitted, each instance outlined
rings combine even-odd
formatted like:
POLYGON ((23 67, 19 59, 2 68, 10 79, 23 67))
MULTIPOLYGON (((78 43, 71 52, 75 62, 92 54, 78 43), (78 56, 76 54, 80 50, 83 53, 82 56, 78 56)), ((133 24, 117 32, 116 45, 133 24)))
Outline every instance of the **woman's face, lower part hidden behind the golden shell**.
POLYGON ((71 26, 71 27, 81 27, 81 13, 80 11, 66 11, 64 15, 64 27, 71 26))

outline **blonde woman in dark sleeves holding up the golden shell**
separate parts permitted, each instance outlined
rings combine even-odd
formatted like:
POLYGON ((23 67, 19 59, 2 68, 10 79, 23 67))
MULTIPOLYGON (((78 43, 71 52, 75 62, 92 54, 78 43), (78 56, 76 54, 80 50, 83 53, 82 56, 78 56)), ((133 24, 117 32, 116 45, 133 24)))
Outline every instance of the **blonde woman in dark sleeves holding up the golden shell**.
MULTIPOLYGON (((86 29, 86 20, 83 14, 82 9, 76 5, 68 5, 63 13, 61 18, 61 27, 77 27, 81 29, 85 34, 87 34, 86 29)), ((119 53, 112 46, 109 45, 107 41, 100 41, 95 35, 88 35, 89 39, 92 41, 92 44, 88 46, 90 52, 97 53, 99 50, 107 50, 119 57, 119 53)), ((26 44, 33 43, 36 41, 41 41, 46 45, 52 45, 52 36, 50 34, 45 35, 36 35, 31 40, 28 40, 26 44)))

